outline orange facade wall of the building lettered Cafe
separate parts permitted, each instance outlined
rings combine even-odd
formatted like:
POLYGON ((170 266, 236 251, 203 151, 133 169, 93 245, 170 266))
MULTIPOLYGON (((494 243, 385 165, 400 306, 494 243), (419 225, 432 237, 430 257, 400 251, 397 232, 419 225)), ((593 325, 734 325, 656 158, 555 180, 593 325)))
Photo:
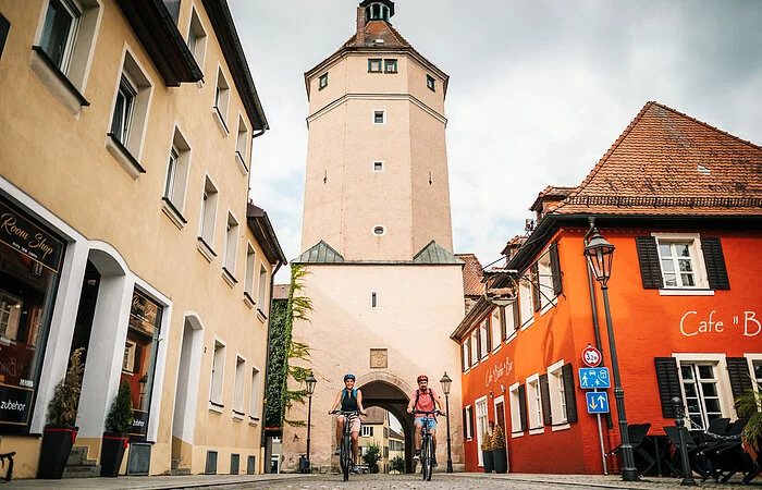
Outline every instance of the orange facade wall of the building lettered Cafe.
MULTIPOLYGON (((562 230, 553 240, 558 246, 564 289, 556 306, 543 315, 534 313, 533 323, 516 331, 515 336, 502 342, 488 358, 463 375, 464 406, 474 407, 477 400, 487 395, 490 420, 495 419, 494 400, 505 396, 512 473, 603 473, 597 418, 587 413, 583 390, 578 388, 578 368, 583 367, 581 351, 588 344, 594 345, 582 256, 585 231, 562 230), (578 421, 565 430, 554 431, 546 426, 542 433, 525 431, 520 437, 511 437, 508 387, 525 383, 533 373, 542 375, 548 366, 562 359, 574 366, 578 421)), ((674 419, 662 416, 654 357, 712 360, 759 354, 762 359, 762 257, 754 252, 762 247, 762 233, 691 231, 721 238, 730 290, 663 295, 660 290, 643 289, 641 282, 635 237, 650 236, 652 230, 600 231, 616 246, 609 293, 627 419, 629 424, 650 422, 650 434, 664 434, 662 427, 674 425, 674 419)), ((598 283, 594 286, 603 364, 611 366, 601 290, 598 283)), ((718 366, 722 367, 722 362, 718 366)), ((735 418, 726 376, 718 370, 723 416, 735 418)), ((603 422, 606 451, 618 444, 613 391, 609 390, 609 397, 614 429, 609 432, 603 422)), ((466 469, 480 471, 476 438, 465 444, 466 469)), ((611 465, 616 465, 611 460, 607 464, 610 471, 611 465)))

